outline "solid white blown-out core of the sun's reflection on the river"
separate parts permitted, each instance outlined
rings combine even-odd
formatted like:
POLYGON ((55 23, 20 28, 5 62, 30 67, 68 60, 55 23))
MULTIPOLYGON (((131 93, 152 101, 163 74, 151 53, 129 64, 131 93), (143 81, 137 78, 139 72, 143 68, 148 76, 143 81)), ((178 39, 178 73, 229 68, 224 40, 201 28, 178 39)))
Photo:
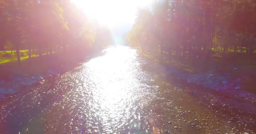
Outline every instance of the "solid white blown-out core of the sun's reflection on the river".
MULTIPOLYGON (((131 66, 131 63, 135 61, 135 50, 127 47, 114 47, 106 51, 108 53, 105 56, 85 64, 93 74, 92 80, 99 83, 96 86, 98 89, 95 90, 99 92, 93 94, 100 94, 96 95, 94 99, 101 100, 100 115, 103 119, 103 125, 111 128, 111 126, 119 124, 120 119, 122 123, 134 116, 134 113, 130 113, 134 108, 129 111, 128 109, 134 107, 136 100, 134 92, 139 90, 134 92, 133 90, 137 89, 139 80, 135 78, 134 67, 131 66)), ((131 126, 138 128, 136 124, 131 126)))

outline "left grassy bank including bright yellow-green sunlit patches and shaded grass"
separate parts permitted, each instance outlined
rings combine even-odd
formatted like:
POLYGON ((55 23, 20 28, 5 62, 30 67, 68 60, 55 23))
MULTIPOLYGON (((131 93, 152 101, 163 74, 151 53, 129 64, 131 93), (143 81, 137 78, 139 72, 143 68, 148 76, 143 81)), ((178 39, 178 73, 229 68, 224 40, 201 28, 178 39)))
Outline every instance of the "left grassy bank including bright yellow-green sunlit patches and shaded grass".
MULTIPOLYGON (((11 75, 35 75, 46 73, 49 69, 53 70, 62 70, 62 65, 66 67, 75 66, 79 61, 83 60, 90 53, 77 53, 72 54, 71 51, 67 53, 52 53, 44 54, 43 56, 32 55, 32 58, 29 59, 27 50, 21 51, 23 54, 20 56, 21 66, 17 63, 17 58, 15 57, 15 52, 12 52, 12 57, 0 59, 0 79, 6 79, 11 75)), ((0 54, 11 53, 9 51, 1 51, 0 54)))

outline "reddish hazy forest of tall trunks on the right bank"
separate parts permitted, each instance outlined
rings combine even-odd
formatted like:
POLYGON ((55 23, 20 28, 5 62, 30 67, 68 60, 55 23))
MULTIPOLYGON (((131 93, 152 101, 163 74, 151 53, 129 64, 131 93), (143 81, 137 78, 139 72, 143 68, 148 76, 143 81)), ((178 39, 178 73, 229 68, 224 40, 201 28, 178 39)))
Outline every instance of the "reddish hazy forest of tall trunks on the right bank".
POLYGON ((194 61, 202 70, 255 70, 256 2, 155 0, 139 8, 127 41, 140 53, 194 61), (227 65, 228 64, 228 65, 227 65), (231 64, 231 65, 230 65, 231 64), (250 67, 249 67, 250 66, 250 67))

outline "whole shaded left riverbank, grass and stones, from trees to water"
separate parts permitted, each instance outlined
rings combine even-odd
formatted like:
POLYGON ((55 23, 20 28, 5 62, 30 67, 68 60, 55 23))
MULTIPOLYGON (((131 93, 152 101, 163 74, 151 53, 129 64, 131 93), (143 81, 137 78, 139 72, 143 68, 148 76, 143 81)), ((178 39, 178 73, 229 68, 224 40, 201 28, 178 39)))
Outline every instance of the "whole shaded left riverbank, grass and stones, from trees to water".
POLYGON ((62 73, 76 67, 100 53, 67 56, 63 53, 52 53, 33 57, 31 61, 25 59, 22 65, 17 62, 1 64, 0 99, 6 99, 20 92, 33 92, 38 85, 44 84, 47 79, 60 76, 62 73))

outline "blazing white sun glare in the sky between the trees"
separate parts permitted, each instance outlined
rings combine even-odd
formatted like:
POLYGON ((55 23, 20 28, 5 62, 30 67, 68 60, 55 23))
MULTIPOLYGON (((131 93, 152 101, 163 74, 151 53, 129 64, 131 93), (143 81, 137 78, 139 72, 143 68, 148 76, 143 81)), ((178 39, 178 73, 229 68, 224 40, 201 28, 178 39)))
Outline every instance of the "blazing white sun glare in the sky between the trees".
POLYGON ((113 27, 120 23, 133 23, 137 7, 148 6, 152 0, 71 0, 88 17, 100 24, 113 27))

